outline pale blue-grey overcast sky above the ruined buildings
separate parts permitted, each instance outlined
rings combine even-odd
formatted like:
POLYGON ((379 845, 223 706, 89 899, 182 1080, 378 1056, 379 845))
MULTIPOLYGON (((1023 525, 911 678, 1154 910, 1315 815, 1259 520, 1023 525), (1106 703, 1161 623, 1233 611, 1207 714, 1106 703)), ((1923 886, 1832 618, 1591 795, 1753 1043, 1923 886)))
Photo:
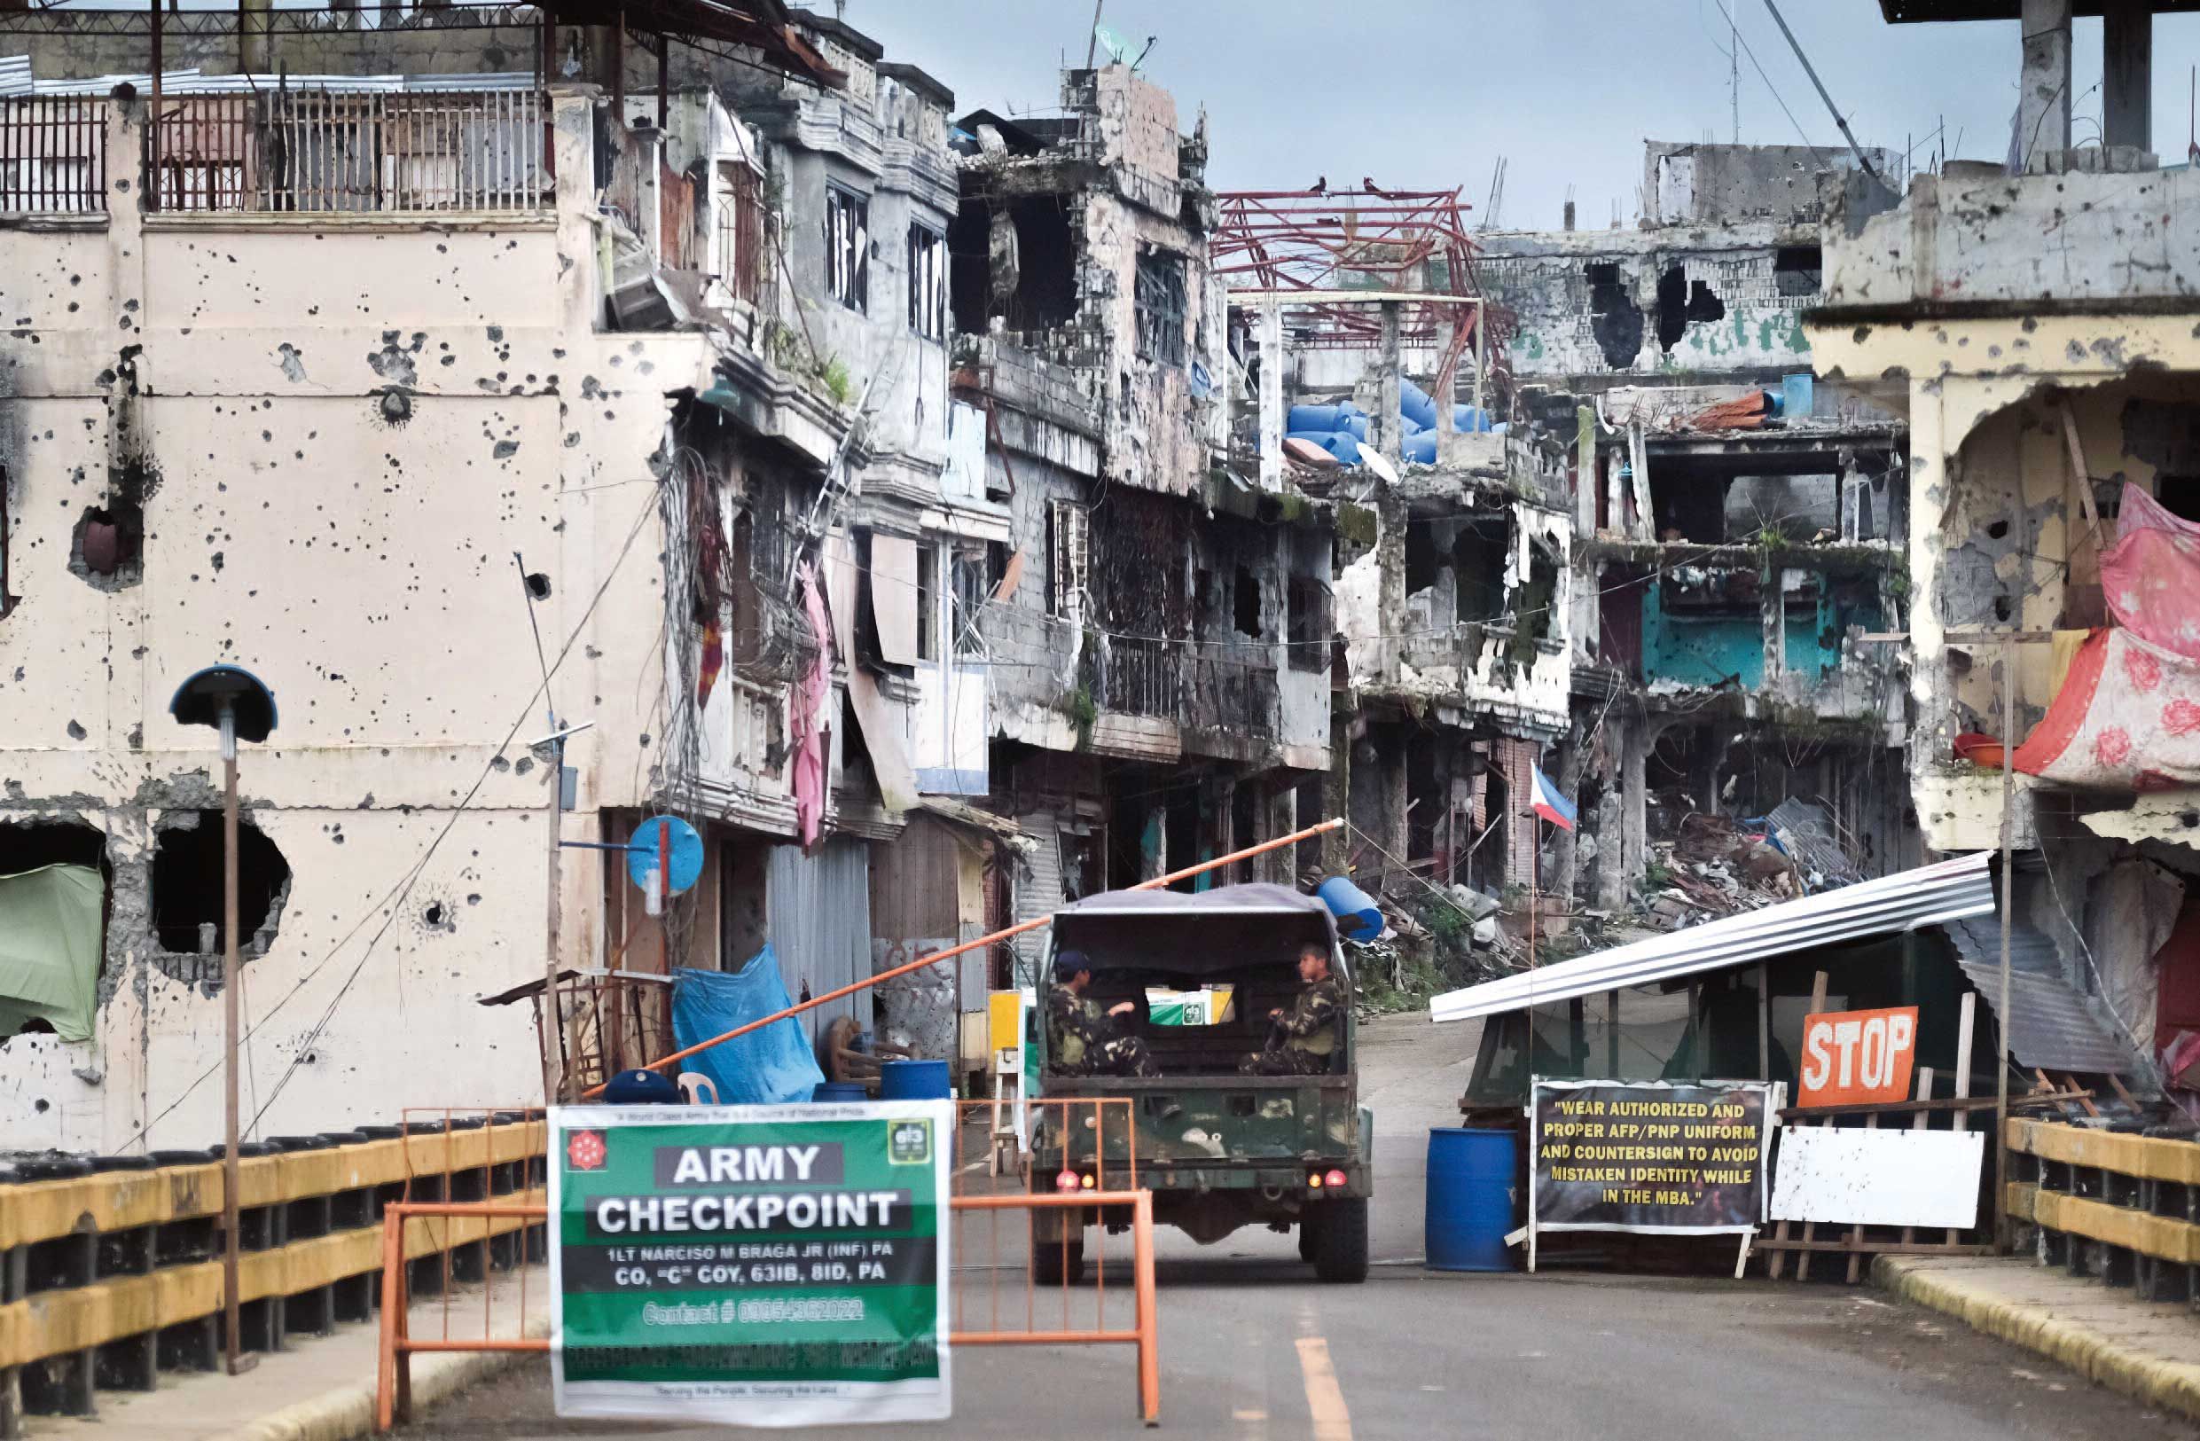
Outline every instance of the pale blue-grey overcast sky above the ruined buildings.
MULTIPOLYGON (((832 13, 832 0, 810 0, 832 13)), ((1740 24, 1740 139, 1837 145, 1841 134, 1764 0, 1104 0, 1190 130, 1208 110, 1217 189, 1371 176, 1463 185, 1476 213, 1507 158, 1498 222, 1558 229, 1637 213, 1641 143, 1734 139, 1725 4, 1740 24), (1751 64, 1751 53, 1756 64, 1751 64), (1764 75, 1758 75, 1762 64, 1764 75), (1769 77, 1769 84, 1767 84, 1769 77), (1775 95, 1778 92, 1778 95, 1775 95), (1793 121, 1782 112, 1793 112, 1793 121)), ((1091 0, 847 0, 847 22, 955 90, 957 114, 1058 106, 1063 57, 1085 64, 1091 0)), ((1901 152, 1943 128, 1951 156, 2002 158, 2017 97, 2017 22, 1885 24, 1879 0, 1782 0, 1866 145, 1901 152)), ((2079 141, 2099 136, 2101 22, 2077 22, 2079 141)), ((2200 15, 2154 22, 2154 147, 2182 161, 2200 15)))

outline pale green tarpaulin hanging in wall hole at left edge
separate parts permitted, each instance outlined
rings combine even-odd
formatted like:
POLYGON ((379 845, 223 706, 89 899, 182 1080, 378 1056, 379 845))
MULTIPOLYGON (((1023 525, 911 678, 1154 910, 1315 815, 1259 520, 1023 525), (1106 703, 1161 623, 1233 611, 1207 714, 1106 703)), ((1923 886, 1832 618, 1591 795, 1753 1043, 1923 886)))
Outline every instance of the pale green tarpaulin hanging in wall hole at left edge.
POLYGON ((62 1041, 92 1038, 103 900, 88 865, 0 876, 0 1036, 46 1021, 62 1041))

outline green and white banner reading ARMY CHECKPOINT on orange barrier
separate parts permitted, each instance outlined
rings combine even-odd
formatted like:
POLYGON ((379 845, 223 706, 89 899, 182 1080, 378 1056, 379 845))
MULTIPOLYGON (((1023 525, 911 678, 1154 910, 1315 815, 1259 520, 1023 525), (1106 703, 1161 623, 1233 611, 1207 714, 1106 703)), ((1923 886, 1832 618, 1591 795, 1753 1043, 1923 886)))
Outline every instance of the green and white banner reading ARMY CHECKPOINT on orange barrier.
POLYGON ((554 1107, 561 1417, 942 1421, 953 1102, 554 1107))

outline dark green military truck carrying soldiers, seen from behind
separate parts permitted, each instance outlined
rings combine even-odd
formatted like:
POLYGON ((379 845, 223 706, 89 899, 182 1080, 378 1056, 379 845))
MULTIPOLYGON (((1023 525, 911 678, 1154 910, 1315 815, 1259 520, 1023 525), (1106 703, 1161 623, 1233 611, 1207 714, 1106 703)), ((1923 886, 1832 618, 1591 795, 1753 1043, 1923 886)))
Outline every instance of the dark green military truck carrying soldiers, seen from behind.
MULTIPOLYGON (((1085 997, 1102 1012, 1131 1001, 1131 1014, 1113 1023, 1144 1041, 1162 1076, 1063 1074, 1047 1056, 1041 1001, 1034 1096, 1129 1098, 1135 1126, 1122 1124, 1120 1107, 1104 1109, 1100 1126, 1089 1124, 1091 1109, 1034 1107, 1030 1188, 1126 1188, 1135 1140, 1137 1184, 1153 1192, 1155 1221, 1201 1245, 1241 1225, 1296 1230, 1298 1254, 1316 1276, 1366 1280, 1373 1124, 1360 1109, 1351 1005, 1335 1021, 1327 1074, 1239 1071, 1267 1041, 1269 1012, 1289 1010, 1298 997, 1298 953, 1307 944, 1329 950, 1349 1001, 1353 981, 1329 906, 1289 887, 1107 891, 1060 911, 1041 997, 1054 979, 1054 955, 1082 950, 1093 972, 1085 997)), ((1118 1232, 1131 1214, 1036 1208, 1036 1280, 1078 1280, 1085 1228, 1096 1223, 1118 1232)))

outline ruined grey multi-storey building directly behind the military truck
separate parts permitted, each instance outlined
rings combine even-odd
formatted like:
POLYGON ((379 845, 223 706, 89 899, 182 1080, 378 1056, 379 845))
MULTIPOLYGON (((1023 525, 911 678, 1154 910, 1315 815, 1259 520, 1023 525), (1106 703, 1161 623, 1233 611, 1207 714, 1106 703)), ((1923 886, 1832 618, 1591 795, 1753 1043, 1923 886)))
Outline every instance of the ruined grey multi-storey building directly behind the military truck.
POLYGON ((1010 515, 972 640, 1019 920, 1287 834, 1329 766, 1329 513, 1232 462, 1203 121, 1122 64, 1060 99, 957 121, 948 235, 957 436, 1010 515))

